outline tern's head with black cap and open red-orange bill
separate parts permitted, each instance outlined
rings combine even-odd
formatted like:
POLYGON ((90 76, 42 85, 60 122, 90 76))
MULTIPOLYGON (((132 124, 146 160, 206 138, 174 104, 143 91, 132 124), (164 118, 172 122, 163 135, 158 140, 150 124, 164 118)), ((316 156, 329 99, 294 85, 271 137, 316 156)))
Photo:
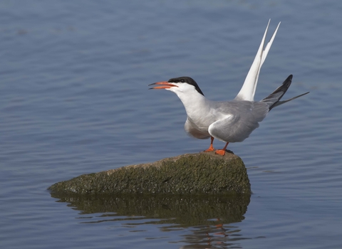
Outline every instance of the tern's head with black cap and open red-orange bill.
POLYGON ((196 92, 204 96, 202 90, 199 89, 196 81, 192 80, 192 78, 190 77, 172 78, 168 81, 161 81, 150 85, 157 85, 150 89, 165 89, 171 92, 175 92, 175 94, 177 94, 178 96, 180 96, 181 94, 190 95, 196 92))

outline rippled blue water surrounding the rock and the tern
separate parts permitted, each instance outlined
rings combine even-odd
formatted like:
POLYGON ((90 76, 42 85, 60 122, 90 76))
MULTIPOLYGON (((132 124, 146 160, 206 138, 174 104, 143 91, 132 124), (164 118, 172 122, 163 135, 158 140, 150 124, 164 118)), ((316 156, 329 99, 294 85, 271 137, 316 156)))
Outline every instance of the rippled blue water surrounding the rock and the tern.
POLYGON ((340 1, 1 1, 1 248, 341 248, 341 11, 340 1), (177 96, 147 84, 188 75, 210 99, 232 99, 269 18, 271 32, 282 23, 256 99, 289 74, 287 96, 311 93, 229 144, 250 198, 46 190, 206 149, 183 131, 177 96))

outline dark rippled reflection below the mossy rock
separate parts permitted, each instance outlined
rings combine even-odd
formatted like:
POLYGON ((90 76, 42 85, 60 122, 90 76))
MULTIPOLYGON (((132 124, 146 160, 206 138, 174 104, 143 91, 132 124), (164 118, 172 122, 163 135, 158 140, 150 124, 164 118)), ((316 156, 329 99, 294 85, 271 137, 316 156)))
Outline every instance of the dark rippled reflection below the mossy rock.
POLYGON ((132 228, 155 224, 164 232, 186 228, 187 232, 181 235, 180 240, 170 241, 187 244, 183 248, 239 248, 237 241, 246 239, 242 238, 237 226, 229 224, 244 219, 249 195, 51 196, 58 198, 59 202, 70 203, 68 206, 81 211, 82 215, 102 213, 96 218, 92 217, 91 221, 83 220, 81 223, 120 222, 121 226, 132 228))

